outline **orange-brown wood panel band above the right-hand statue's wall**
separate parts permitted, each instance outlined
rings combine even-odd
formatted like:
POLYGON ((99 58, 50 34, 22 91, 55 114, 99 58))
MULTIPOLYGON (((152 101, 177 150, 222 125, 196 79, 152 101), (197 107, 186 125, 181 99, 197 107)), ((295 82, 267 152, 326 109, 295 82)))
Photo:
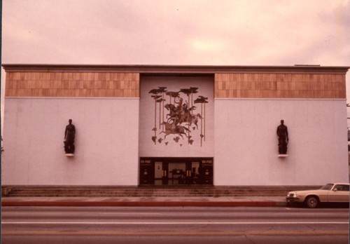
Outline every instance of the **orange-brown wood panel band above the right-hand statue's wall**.
POLYGON ((215 97, 345 99, 345 74, 215 74, 215 97))

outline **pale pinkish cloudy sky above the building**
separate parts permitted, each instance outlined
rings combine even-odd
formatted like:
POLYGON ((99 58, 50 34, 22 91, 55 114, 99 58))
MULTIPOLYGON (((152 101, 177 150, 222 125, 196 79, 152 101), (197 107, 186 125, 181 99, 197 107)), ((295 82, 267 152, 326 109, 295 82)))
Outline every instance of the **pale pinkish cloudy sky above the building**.
POLYGON ((2 4, 3 64, 350 66, 350 0, 2 4))

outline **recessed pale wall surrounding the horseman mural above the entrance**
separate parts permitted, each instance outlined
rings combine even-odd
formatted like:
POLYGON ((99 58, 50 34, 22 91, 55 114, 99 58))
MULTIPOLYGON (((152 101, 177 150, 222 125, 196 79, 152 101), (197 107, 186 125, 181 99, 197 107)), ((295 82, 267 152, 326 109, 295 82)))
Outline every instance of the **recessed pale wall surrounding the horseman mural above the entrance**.
MULTIPOLYGON (((183 97, 183 103, 188 97, 180 93, 183 97)), ((169 103, 169 96, 165 95, 165 104, 169 103)), ((172 99, 174 104, 174 98, 172 99)), ((193 114, 202 114, 202 135, 204 135, 204 107, 201 104, 195 104, 193 114)), ((165 109, 165 121, 167 121, 169 111, 165 109)), ((186 123, 182 123, 186 125, 186 123)), ((195 127, 193 124, 191 127, 195 127)), ((213 157, 214 156, 214 76, 143 76, 141 78, 141 99, 140 99, 140 130, 139 130, 139 155, 148 157, 213 157), (193 100, 200 95, 208 97, 208 103, 205 105, 205 141, 202 138, 201 145, 201 121, 197 122, 198 128, 190 128, 190 140, 183 135, 183 138, 177 134, 170 134, 165 137, 165 133, 160 133, 159 127, 159 104, 157 104, 156 124, 157 124, 157 142, 152 140, 155 135, 155 100, 151 97, 149 91, 166 87, 167 91, 178 92, 182 88, 196 87, 198 93, 193 94, 193 100), (180 137, 179 141, 174 141, 175 137, 180 137), (161 142, 158 140, 161 139, 161 142)), ((187 128, 187 126, 186 126, 187 128)))

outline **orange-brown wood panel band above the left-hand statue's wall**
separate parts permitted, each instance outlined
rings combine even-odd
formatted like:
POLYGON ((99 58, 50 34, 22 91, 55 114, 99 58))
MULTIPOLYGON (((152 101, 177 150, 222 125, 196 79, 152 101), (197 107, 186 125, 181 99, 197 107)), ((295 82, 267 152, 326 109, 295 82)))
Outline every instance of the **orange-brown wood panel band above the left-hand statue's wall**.
POLYGON ((139 97, 139 73, 6 72, 6 97, 139 97))

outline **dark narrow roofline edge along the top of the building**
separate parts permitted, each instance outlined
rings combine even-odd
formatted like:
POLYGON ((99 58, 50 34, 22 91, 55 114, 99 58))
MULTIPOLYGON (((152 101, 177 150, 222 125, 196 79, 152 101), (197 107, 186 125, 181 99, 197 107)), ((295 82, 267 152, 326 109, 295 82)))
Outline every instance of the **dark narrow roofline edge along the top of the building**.
POLYGON ((347 66, 229 66, 229 65, 40 65, 3 64, 6 72, 135 72, 141 74, 307 73, 346 74, 347 66))

